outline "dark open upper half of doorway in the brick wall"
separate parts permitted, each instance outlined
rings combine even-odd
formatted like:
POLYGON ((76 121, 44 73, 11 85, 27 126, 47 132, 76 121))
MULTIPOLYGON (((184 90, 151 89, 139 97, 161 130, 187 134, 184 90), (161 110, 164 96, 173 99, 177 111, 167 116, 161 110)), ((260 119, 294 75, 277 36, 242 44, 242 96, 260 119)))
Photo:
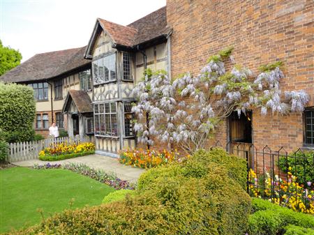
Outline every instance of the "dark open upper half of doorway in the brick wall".
POLYGON ((241 142, 252 144, 252 112, 232 112, 229 116, 230 142, 241 142))

